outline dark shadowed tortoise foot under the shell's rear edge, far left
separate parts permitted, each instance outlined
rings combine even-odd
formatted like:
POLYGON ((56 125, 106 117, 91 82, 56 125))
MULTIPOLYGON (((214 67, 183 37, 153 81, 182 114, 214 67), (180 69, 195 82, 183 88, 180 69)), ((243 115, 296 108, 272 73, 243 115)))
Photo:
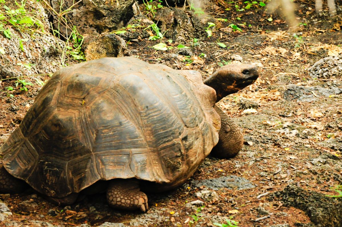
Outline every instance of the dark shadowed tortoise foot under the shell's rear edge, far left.
POLYGON ((0 193, 16 194, 25 191, 28 184, 21 179, 15 178, 0 165, 0 193))

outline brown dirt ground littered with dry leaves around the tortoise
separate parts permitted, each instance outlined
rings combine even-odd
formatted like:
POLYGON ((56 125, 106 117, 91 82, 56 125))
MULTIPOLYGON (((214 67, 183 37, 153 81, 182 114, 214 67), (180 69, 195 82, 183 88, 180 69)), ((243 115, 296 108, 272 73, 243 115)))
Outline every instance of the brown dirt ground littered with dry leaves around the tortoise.
MULTIPOLYGON (((342 71, 329 74, 338 67, 334 62, 341 68, 342 55, 339 61, 336 57, 332 63, 319 65, 327 69, 327 75, 308 70, 319 59, 342 53, 342 2, 337 1, 336 17, 317 15, 312 1, 297 3, 302 25, 295 36, 277 14, 269 21, 264 9, 235 11, 221 6, 209 14, 228 20, 221 21, 204 41, 181 43, 189 49, 157 51, 150 48, 157 40, 128 42, 132 55, 150 63, 199 70, 203 78, 234 61, 259 66, 255 84, 219 103, 244 133, 245 146, 236 157, 208 157, 183 186, 147 194, 147 213, 113 210, 104 194, 66 207, 53 205, 33 191, 0 195, 9 208, 0 212, 0 226, 234 226, 226 219, 238 222, 239 227, 342 226, 340 198, 326 196, 339 195, 342 181, 342 71), (228 27, 232 23, 246 25, 240 25, 238 32, 228 27), (198 185, 205 179, 232 175, 252 187, 198 185), (196 200, 202 201, 197 207, 188 204, 196 200)), ((27 86, 28 91, 6 90, 15 88, 15 80, 0 83, 0 145, 41 88, 34 79, 26 81, 34 84, 27 86)))

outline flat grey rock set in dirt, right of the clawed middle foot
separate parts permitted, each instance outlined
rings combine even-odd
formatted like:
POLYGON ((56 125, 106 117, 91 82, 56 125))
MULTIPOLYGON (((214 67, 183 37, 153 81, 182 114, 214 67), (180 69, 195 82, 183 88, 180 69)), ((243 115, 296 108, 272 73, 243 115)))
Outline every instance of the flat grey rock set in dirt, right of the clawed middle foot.
POLYGON ((246 178, 230 175, 230 176, 222 176, 219 178, 210 178, 200 181, 192 181, 193 186, 195 187, 201 187, 206 186, 209 189, 213 190, 219 190, 222 188, 228 188, 228 189, 249 189, 254 188, 255 186, 248 181, 246 178))

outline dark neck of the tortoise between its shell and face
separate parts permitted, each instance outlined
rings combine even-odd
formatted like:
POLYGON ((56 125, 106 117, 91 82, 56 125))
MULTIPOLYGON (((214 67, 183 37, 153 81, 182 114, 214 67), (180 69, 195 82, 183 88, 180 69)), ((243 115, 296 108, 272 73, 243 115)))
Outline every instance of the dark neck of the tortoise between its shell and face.
POLYGON ((219 74, 219 71, 214 72, 204 83, 216 91, 216 103, 227 95, 236 93, 242 89, 239 88, 236 80, 227 80, 226 75, 219 74))

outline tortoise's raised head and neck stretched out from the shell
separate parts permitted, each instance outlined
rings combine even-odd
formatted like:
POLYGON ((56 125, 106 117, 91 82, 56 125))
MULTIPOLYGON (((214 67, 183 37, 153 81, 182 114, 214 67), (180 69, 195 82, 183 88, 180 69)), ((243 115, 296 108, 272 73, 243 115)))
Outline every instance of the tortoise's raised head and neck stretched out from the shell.
POLYGON ((252 84, 259 77, 255 65, 225 65, 216 70, 204 83, 216 91, 216 102, 252 84))

